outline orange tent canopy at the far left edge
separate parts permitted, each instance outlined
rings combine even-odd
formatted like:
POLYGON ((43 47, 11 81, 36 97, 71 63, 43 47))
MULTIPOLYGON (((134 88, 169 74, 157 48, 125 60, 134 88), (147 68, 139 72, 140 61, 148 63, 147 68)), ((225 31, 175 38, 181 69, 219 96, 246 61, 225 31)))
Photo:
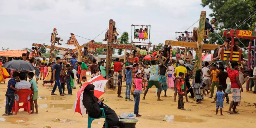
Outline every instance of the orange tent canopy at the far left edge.
POLYGON ((27 53, 28 50, 3 50, 0 51, 0 56, 4 57, 21 57, 22 53, 27 53))

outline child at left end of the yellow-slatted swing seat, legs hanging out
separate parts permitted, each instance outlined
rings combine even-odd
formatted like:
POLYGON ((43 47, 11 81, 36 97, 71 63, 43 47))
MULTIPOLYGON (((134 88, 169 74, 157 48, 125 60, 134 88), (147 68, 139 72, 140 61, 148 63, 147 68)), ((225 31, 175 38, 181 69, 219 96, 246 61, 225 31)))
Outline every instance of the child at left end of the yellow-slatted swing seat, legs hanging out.
POLYGON ((229 42, 230 42, 230 40, 226 39, 226 40, 224 40, 224 44, 215 48, 215 50, 213 52, 213 56, 212 56, 213 60, 219 60, 220 59, 220 53, 223 50, 224 51, 230 51, 231 50, 231 48, 229 47, 229 42), (224 49, 222 49, 221 47, 224 47, 224 49))

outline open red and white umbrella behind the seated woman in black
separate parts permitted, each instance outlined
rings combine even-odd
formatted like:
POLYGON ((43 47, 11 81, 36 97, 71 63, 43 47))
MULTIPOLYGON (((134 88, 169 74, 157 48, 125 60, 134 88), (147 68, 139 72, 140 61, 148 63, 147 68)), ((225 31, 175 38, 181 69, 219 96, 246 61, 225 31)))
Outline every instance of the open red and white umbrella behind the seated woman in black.
POLYGON ((107 82, 108 82, 108 80, 103 78, 102 75, 93 77, 89 81, 85 82, 82 85, 82 87, 77 91, 77 98, 75 101, 74 111, 80 113, 81 115, 83 115, 86 112, 86 108, 84 107, 82 100, 83 100, 84 88, 88 84, 93 84, 95 86, 94 87, 94 96, 97 98, 100 98, 100 96, 105 93, 104 87, 107 82))

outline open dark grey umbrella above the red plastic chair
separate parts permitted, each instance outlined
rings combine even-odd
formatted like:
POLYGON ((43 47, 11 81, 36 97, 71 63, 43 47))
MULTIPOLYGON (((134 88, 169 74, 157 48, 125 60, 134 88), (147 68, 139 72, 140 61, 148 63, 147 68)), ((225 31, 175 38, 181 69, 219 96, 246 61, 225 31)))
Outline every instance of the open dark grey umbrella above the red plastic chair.
POLYGON ((26 71, 34 71, 36 68, 29 62, 24 60, 12 60, 5 63, 2 67, 6 69, 15 69, 15 70, 26 70, 26 71))

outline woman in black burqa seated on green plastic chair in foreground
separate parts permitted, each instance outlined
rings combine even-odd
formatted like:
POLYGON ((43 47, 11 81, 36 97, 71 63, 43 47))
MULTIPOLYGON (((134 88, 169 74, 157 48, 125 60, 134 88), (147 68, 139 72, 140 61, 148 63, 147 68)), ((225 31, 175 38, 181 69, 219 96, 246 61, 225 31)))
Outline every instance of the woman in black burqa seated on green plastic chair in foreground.
MULTIPOLYGON (((83 104, 84 104, 84 107, 86 108, 86 113, 88 113, 90 117, 98 118, 102 116, 100 108, 104 108, 104 112, 108 122, 108 127, 120 126, 121 123, 119 122, 119 118, 117 117, 115 111, 109 107, 103 106, 102 103, 99 104, 100 102, 102 102, 102 100, 96 98, 93 93, 94 93, 94 85, 88 84, 84 88, 84 94, 83 94, 83 104)), ((105 128, 105 123, 103 125, 103 128, 105 128)))

